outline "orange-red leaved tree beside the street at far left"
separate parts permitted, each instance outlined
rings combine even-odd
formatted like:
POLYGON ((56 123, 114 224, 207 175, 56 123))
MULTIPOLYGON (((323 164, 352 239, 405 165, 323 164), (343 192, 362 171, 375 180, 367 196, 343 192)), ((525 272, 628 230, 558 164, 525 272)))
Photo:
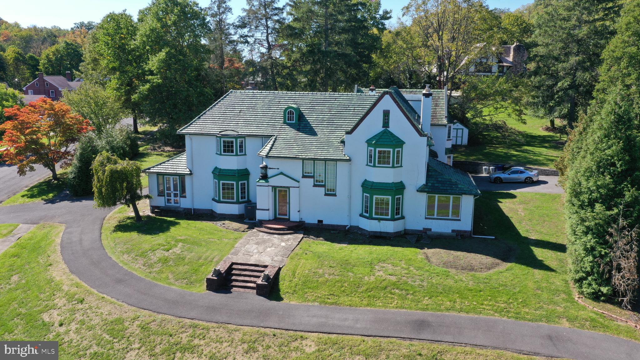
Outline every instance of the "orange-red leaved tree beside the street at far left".
POLYGON ((4 130, 0 149, 5 147, 1 155, 6 163, 17 166, 20 176, 40 164, 58 181, 56 165, 68 167, 79 136, 92 130, 89 120, 72 113, 67 104, 46 97, 24 108, 16 105, 4 109, 4 115, 9 120, 0 125, 0 130, 4 130))

